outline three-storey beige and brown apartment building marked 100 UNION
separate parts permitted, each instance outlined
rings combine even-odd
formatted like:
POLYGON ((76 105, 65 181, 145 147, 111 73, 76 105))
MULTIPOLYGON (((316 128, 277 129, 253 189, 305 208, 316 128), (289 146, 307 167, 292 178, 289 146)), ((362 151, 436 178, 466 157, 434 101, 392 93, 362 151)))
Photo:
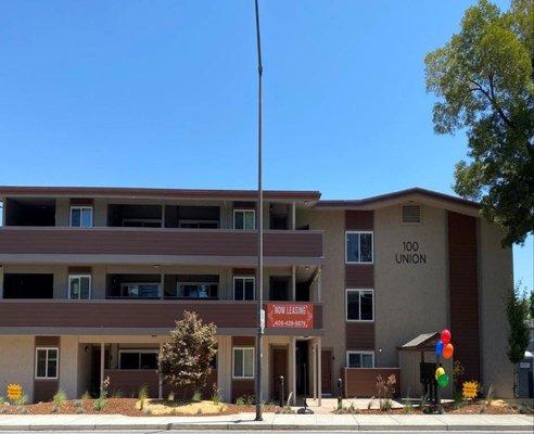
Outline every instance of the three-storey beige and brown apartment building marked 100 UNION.
MULTIPOLYGON (((204 393, 254 393, 254 191, 0 187, 0 391, 77 397, 109 376, 123 396, 142 384, 166 396, 157 352, 190 310, 217 326, 204 393)), ((511 251, 475 203, 422 189, 264 200, 264 399, 280 375, 288 394, 320 399, 340 378, 343 393, 370 396, 393 373, 417 396, 444 328, 467 378, 511 394, 511 251)))

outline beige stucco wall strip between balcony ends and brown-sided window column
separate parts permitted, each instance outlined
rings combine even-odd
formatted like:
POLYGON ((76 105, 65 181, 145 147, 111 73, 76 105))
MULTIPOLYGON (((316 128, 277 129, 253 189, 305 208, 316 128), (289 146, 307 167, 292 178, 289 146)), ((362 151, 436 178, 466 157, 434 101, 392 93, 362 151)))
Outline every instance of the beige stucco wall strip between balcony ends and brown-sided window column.
POLYGON ((296 225, 309 225, 312 230, 323 230, 325 266, 321 272, 322 349, 333 350, 332 393, 336 379, 345 366, 345 212, 300 210, 296 225))

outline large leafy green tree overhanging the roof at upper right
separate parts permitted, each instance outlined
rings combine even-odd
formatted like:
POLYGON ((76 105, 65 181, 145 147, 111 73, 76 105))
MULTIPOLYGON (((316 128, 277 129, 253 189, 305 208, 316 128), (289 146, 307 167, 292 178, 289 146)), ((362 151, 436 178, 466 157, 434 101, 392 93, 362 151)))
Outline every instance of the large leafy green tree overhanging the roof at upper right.
POLYGON ((455 191, 482 204, 505 229, 504 245, 534 230, 534 2, 508 12, 486 0, 469 8, 459 34, 425 59, 427 91, 438 97, 434 130, 468 137, 455 191))

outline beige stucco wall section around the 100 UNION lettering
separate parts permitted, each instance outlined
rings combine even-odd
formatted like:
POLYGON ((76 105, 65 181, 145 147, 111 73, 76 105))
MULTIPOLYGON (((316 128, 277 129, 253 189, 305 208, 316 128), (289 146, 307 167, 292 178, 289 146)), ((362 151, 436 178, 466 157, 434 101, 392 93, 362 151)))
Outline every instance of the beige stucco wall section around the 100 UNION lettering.
POLYGON ((444 209, 422 206, 421 225, 404 225, 402 206, 374 212, 374 333, 378 367, 397 367, 396 347, 448 323, 444 209), (403 242, 418 242, 425 264, 397 264, 403 242), (379 350, 382 349, 382 352, 379 350))

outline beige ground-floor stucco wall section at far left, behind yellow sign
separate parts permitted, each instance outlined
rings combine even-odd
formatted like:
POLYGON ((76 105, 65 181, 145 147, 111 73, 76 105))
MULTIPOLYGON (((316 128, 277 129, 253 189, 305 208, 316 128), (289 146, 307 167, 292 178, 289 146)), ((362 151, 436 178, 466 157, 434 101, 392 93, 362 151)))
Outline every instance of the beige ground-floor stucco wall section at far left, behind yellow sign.
POLYGON ((0 395, 5 396, 10 383, 22 385, 34 396, 34 336, 0 336, 0 395))

